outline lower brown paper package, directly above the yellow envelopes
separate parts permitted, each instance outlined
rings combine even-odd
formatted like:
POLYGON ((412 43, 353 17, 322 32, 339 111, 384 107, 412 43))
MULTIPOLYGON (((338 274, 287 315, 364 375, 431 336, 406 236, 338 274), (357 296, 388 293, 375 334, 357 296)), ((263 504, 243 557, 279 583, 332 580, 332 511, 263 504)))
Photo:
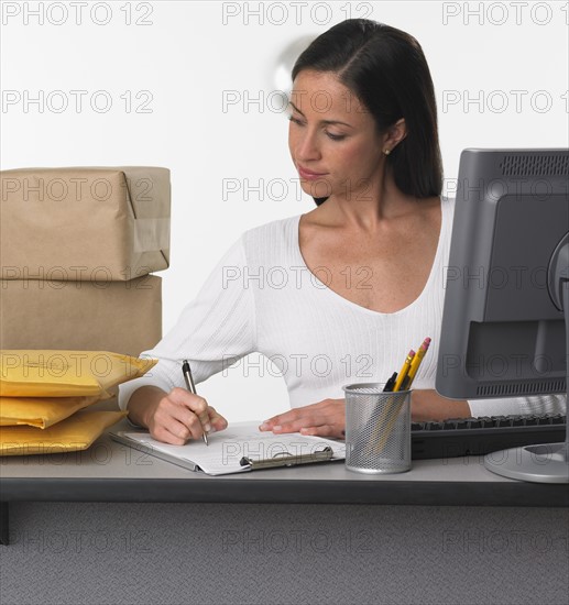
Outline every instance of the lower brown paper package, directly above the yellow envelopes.
POLYGON ((0 349, 112 351, 138 356, 162 338, 162 278, 0 280, 0 349))

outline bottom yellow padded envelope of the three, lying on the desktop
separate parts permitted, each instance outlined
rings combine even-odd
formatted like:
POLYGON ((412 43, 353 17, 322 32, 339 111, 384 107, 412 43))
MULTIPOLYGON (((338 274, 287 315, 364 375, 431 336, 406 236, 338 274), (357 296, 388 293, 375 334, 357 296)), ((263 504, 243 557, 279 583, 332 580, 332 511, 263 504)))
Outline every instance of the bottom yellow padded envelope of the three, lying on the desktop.
POLYGON ((83 409, 47 429, 0 427, 0 455, 29 455, 86 450, 125 411, 83 409))

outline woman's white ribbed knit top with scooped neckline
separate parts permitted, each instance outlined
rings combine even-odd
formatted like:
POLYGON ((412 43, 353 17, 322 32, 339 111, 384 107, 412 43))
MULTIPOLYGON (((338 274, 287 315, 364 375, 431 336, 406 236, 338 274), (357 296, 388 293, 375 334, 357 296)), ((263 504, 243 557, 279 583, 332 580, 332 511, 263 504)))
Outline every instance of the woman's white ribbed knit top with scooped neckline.
MULTIPOLYGON (((442 198, 435 262, 424 290, 393 314, 361 307, 328 288, 325 267, 313 274, 298 244, 300 215, 245 231, 219 261, 174 328, 143 356, 157 358, 142 378, 120 386, 125 409, 136 388, 184 386, 182 360, 200 383, 253 352, 282 372, 292 407, 343 397, 351 383, 385 382, 409 349, 433 339, 413 387, 435 388, 450 250, 453 201, 442 198)), ((352 273, 352 287, 364 278, 352 273)), ((329 283, 329 282, 328 282, 329 283)), ((565 413, 563 396, 469 400, 473 416, 565 413)))

